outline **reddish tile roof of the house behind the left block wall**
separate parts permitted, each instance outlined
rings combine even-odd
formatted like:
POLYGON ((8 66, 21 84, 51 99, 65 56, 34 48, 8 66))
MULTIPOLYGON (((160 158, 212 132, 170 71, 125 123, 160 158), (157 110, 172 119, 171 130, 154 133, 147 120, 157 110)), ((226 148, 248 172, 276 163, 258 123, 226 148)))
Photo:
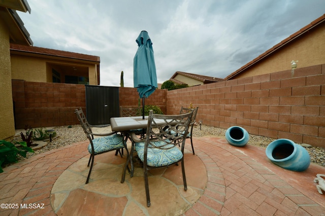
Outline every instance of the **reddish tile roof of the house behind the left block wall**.
POLYGON ((54 56, 54 57, 64 57, 64 58, 71 58, 71 59, 79 59, 79 60, 86 60, 92 62, 100 62, 99 56, 91 56, 85 55, 80 53, 73 53, 61 50, 53 50, 41 47, 31 47, 31 46, 23 46, 17 44, 10 44, 10 50, 26 52, 31 54, 40 54, 40 55, 47 55, 47 56, 54 56))

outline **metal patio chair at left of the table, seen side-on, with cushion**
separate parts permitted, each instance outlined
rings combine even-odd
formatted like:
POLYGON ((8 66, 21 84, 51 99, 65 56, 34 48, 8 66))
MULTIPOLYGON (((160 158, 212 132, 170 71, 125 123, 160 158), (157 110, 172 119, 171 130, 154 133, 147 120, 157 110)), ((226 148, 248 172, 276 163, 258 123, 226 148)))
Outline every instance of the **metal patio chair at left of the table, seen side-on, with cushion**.
MULTIPOLYGON (((86 184, 88 184, 95 155, 110 152, 110 151, 115 151, 115 150, 119 151, 120 149, 125 148, 128 157, 128 150, 126 147, 126 142, 125 140, 123 140, 122 135, 116 134, 116 132, 107 133, 107 134, 94 134, 91 131, 91 125, 88 123, 82 109, 81 108, 75 109, 75 113, 83 128, 83 131, 85 132, 90 142, 88 145, 88 152, 90 153, 90 158, 87 166, 89 166, 90 162, 91 164, 88 172, 88 177, 86 180, 86 184), (94 138, 94 136, 99 136, 99 137, 94 138)), ((120 155, 122 157, 121 153, 120 155)))

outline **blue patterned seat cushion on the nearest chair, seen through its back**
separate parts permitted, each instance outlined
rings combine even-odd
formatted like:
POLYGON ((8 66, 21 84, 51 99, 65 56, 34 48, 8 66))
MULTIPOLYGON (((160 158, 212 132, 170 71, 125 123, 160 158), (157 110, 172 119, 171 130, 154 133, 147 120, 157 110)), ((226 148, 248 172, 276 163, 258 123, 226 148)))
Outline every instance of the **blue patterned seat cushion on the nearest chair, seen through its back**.
MULTIPOLYGON (((165 143, 162 141, 154 142, 156 146, 164 145, 165 143)), ((172 147, 173 145, 168 145, 168 147, 172 147)), ((136 143, 136 151, 138 153, 141 161, 144 160, 144 143, 136 143)), ((171 149, 157 149, 157 148, 148 148, 147 152, 147 165, 148 166, 167 166, 173 164, 179 160, 181 160, 183 154, 179 148, 171 148, 171 149)))

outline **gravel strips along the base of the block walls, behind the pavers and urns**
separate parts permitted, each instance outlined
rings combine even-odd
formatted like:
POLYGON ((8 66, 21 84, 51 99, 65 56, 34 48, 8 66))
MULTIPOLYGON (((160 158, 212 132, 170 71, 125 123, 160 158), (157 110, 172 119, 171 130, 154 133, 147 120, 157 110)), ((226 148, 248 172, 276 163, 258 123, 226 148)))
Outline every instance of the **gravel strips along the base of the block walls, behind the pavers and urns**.
MULTIPOLYGON (((56 132, 57 137, 52 139, 52 142, 47 141, 48 144, 39 149, 35 150, 34 153, 29 153, 27 152, 27 157, 32 157, 34 155, 52 150, 52 149, 57 149, 62 146, 67 146, 73 143, 81 142, 87 140, 86 135, 83 132, 82 127, 78 125, 70 125, 70 126, 58 126, 54 127, 54 130, 56 132)), ((223 128, 218 128, 218 127, 212 127, 212 126, 207 126, 207 125, 201 125, 201 130, 200 126, 196 125, 193 128, 193 136, 194 137, 222 137, 224 138, 226 129, 223 128)), ((263 136, 256 136, 256 135, 249 135, 249 141, 247 145, 252 145, 252 146, 259 146, 266 148, 269 143, 274 141, 275 139, 268 138, 268 137, 263 137, 263 136)), ((20 136, 15 136, 13 137, 13 140, 16 141, 21 141, 20 136)), ((321 166, 325 166, 325 148, 320 148, 320 147, 308 147, 305 148, 310 155, 310 159, 312 163, 317 163, 321 166)), ((24 160, 26 159, 24 157, 19 158, 19 160, 24 160)), ((10 164, 7 164, 10 165, 10 164)))

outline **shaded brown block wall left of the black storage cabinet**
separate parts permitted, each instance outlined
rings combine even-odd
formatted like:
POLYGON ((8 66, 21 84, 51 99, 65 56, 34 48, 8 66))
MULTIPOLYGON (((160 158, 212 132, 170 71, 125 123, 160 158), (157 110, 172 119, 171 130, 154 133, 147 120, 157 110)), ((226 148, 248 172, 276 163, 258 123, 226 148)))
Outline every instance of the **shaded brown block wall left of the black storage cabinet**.
POLYGON ((79 124, 74 114, 86 109, 85 85, 12 80, 15 127, 79 124))

